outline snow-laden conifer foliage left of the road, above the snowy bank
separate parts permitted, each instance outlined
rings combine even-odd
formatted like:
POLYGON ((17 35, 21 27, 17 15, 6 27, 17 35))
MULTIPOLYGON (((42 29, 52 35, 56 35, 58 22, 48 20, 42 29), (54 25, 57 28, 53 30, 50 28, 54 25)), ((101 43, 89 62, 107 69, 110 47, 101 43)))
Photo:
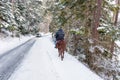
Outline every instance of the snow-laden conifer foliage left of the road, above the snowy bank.
POLYGON ((17 34, 36 33, 44 14, 41 1, 0 1, 0 29, 17 34))

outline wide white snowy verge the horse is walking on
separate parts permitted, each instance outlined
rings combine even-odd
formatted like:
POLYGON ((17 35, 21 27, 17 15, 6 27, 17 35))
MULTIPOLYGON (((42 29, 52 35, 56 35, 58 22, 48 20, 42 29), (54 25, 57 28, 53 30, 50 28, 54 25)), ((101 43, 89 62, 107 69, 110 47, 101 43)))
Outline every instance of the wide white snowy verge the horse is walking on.
POLYGON ((36 42, 9 80, 103 80, 73 56, 58 57, 51 35, 36 42))

